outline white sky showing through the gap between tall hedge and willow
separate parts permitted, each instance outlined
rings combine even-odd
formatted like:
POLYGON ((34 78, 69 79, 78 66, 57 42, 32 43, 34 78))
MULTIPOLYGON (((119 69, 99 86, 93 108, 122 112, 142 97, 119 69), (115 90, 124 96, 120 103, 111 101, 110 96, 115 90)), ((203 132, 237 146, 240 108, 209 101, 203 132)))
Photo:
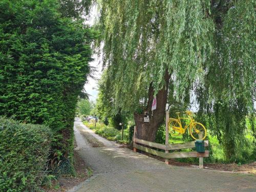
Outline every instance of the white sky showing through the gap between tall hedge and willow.
MULTIPOLYGON (((89 26, 92 26, 95 24, 96 19, 99 17, 97 6, 93 6, 90 11, 89 19, 86 21, 86 24, 89 26)), ((102 63, 101 63, 101 56, 98 56, 97 54, 93 54, 92 58, 94 61, 90 62, 90 66, 96 68, 96 72, 93 74, 94 78, 89 77, 88 82, 84 84, 84 90, 90 95, 89 99, 92 101, 96 101, 96 98, 98 96, 98 86, 97 82, 102 74, 102 63)))

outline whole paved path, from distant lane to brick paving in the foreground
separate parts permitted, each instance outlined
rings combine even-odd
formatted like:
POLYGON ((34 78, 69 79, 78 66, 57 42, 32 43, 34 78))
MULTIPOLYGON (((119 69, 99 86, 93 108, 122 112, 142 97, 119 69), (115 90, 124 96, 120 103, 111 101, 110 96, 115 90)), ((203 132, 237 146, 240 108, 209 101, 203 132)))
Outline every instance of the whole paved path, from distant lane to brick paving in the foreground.
POLYGON ((73 191, 256 191, 255 175, 166 165, 118 147, 75 121, 78 153, 94 175, 73 191), (90 133, 104 146, 91 147, 78 131, 90 133))

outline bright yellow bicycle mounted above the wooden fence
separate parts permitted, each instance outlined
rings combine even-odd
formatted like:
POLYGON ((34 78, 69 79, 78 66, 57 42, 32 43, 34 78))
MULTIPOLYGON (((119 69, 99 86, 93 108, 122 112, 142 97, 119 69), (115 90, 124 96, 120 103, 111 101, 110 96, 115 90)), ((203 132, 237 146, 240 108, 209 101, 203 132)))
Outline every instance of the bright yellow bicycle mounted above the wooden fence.
POLYGON ((201 139, 204 140, 206 137, 206 129, 202 123, 196 122, 192 117, 191 111, 185 112, 188 118, 179 117, 179 112, 177 112, 178 119, 170 118, 168 122, 169 133, 172 136, 179 136, 180 134, 184 134, 187 127, 189 127, 189 133, 193 139, 201 139), (183 128, 181 125, 181 119, 188 119, 189 123, 183 128))

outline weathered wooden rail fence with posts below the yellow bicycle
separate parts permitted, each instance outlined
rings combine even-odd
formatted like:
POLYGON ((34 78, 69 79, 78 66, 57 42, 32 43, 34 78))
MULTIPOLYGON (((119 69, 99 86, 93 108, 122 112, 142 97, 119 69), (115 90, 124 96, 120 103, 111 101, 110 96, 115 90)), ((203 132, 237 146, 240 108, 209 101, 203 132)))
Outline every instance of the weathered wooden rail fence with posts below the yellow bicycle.
MULTIPOLYGON (((133 138, 134 151, 136 152, 136 150, 138 149, 140 151, 147 152, 147 153, 150 153, 152 155, 162 157, 162 158, 165 159, 165 163, 167 163, 167 164, 168 164, 168 159, 172 159, 172 158, 199 157, 199 167, 203 168, 203 157, 209 157, 209 151, 208 150, 205 150, 204 153, 198 153, 196 151, 169 153, 169 151, 171 151, 171 150, 181 150, 181 149, 184 149, 184 148, 194 148, 196 146, 195 146, 194 141, 185 142, 185 143, 169 144, 168 119, 169 119, 169 112, 166 112, 165 144, 160 144, 160 143, 155 143, 155 142, 151 142, 151 141, 138 139, 137 138, 137 129, 136 129, 136 126, 135 126, 134 127, 134 138, 133 138), (156 151, 153 148, 148 148, 148 147, 142 146, 140 144, 147 145, 149 147, 158 148, 158 149, 164 150, 165 152, 156 151)), ((208 140, 204 141, 204 146, 208 146, 208 140)))

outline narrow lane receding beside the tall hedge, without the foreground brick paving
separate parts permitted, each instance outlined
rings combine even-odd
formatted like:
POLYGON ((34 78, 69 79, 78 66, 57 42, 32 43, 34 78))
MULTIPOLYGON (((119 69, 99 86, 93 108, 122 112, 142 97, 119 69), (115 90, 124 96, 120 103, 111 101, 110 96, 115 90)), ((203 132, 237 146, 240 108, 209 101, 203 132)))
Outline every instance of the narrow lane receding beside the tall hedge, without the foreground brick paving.
POLYGON ((134 153, 127 148, 119 147, 115 142, 108 141, 94 134, 88 127, 84 126, 80 120, 75 121, 75 138, 77 146, 80 148, 79 155, 86 162, 94 174, 131 172, 152 169, 169 169, 170 166, 152 159, 150 157, 134 153), (101 147, 92 147, 92 143, 82 136, 82 132, 96 136, 97 140, 103 144, 101 147))

